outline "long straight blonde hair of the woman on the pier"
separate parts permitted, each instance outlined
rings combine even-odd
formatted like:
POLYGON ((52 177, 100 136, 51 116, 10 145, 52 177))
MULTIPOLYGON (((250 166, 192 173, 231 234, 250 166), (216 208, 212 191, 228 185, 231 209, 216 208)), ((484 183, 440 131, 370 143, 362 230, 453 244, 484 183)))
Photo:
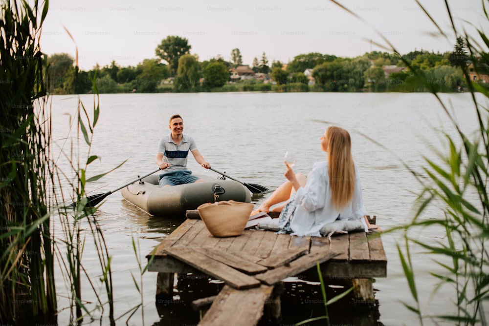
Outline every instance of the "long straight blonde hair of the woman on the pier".
POLYGON ((355 164, 352 158, 352 140, 343 128, 331 126, 326 130, 328 137, 328 175, 333 205, 345 207, 355 192, 355 164))

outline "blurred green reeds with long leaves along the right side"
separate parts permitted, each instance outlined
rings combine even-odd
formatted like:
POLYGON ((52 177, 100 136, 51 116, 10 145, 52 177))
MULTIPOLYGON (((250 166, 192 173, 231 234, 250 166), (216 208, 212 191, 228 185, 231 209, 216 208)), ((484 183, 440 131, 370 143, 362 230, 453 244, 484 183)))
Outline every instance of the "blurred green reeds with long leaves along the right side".
MULTIPOLYGON (((352 15, 358 15, 332 0, 352 15)), ((469 22, 463 22, 458 28, 454 23, 452 8, 445 1, 444 11, 451 23, 451 30, 444 31, 429 12, 416 0, 421 10, 433 22, 440 37, 456 44, 457 38, 467 44, 469 55, 462 70, 467 83, 470 101, 475 112, 474 135, 469 136, 463 131, 447 105, 439 95, 439 87, 431 82, 420 69, 412 67, 410 62, 400 59, 415 75, 412 80, 414 89, 429 90, 438 102, 445 115, 451 121, 455 132, 445 133, 446 148, 439 153, 440 163, 425 158, 426 165, 422 172, 415 172, 415 167, 406 166, 413 176, 422 184, 422 192, 415 203, 413 219, 406 225, 391 229, 390 232, 405 229, 404 242, 398 244, 401 265, 409 285, 415 305, 404 302, 407 309, 417 314, 422 325, 426 319, 438 322, 450 322, 455 325, 487 325, 487 302, 489 299, 489 252, 486 241, 489 238, 489 91, 487 85, 470 79, 468 63, 473 63, 474 71, 481 74, 489 73, 489 38, 481 28, 475 28, 469 22), (476 29, 475 37, 467 33, 468 27, 476 29), (451 35, 451 36, 450 36, 451 35), (479 94, 477 94, 479 93, 479 94), (485 101, 484 104, 482 104, 485 101), (438 212, 433 214, 432 212, 438 212), (445 237, 433 242, 418 237, 420 231, 429 228, 430 232, 443 232, 445 237), (432 259, 433 288, 418 288, 416 284, 416 260, 412 259, 414 250, 424 250, 432 259), (434 271, 435 268, 440 271, 434 271), (452 297, 440 292, 448 286, 452 297), (426 309, 422 299, 431 296, 433 301, 443 303, 445 307, 453 305, 450 312, 433 314, 426 309)), ((489 22, 485 1, 481 1, 482 13, 489 22)), ((364 21, 364 20, 363 20, 364 21)), ((388 51, 400 55, 395 46, 381 33, 379 37, 387 46, 376 44, 388 51)), ((448 290, 448 291, 449 291, 448 290)))

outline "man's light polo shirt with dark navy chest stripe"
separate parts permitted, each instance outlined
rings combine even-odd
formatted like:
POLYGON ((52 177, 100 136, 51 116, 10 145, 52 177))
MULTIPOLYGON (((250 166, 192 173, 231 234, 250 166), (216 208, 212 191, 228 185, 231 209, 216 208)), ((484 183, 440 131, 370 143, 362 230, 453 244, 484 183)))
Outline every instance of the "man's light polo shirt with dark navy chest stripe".
POLYGON ((192 137, 182 135, 182 141, 177 145, 172 134, 162 137, 159 140, 158 153, 163 153, 163 161, 170 163, 162 174, 187 169, 188 152, 197 149, 197 145, 192 137))

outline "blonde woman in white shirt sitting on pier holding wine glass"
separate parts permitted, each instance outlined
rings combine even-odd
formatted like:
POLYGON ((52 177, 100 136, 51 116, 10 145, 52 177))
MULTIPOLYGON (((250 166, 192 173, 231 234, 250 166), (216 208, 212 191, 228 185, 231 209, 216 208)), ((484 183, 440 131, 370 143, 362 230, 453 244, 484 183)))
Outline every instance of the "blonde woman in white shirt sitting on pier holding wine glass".
POLYGON ((331 126, 320 138, 327 160, 314 163, 308 178, 294 173, 286 163, 287 182, 252 214, 281 212, 280 233, 297 236, 321 236, 320 229, 336 220, 358 219, 365 232, 380 229, 370 224, 363 206, 360 178, 352 158, 350 134, 343 128, 331 126), (284 203, 285 202, 285 203, 284 203), (279 204, 273 208, 271 206, 279 204), (270 209, 271 208, 271 209, 270 209))

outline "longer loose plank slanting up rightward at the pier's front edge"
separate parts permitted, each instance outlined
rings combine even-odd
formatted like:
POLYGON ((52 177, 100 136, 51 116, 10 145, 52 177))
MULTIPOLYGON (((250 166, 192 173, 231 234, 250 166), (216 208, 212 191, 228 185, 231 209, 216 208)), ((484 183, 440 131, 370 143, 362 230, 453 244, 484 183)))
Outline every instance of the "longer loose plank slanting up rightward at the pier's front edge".
POLYGON ((331 252, 315 252, 302 256, 293 262, 290 262, 288 265, 268 270, 263 274, 258 274, 255 276, 255 278, 267 285, 273 285, 287 277, 300 274, 301 272, 314 267, 317 262, 319 262, 319 264, 326 262, 333 258, 334 255, 335 254, 331 252))

